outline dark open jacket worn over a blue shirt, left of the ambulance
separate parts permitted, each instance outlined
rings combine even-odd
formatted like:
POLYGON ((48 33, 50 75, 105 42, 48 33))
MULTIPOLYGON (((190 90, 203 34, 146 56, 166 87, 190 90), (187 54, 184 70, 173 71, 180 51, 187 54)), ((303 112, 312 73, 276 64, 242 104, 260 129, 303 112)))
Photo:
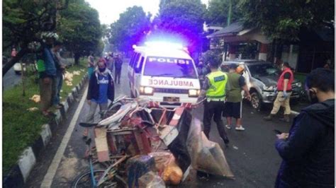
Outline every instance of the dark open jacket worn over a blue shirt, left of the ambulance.
POLYGON ((99 70, 94 71, 94 74, 90 77, 89 80, 89 88, 87 92, 86 99, 87 100, 98 100, 99 98, 99 74, 108 75, 108 90, 107 90, 107 98, 111 101, 114 100, 114 83, 113 83, 113 76, 111 71, 106 69, 103 73, 100 73, 99 70))

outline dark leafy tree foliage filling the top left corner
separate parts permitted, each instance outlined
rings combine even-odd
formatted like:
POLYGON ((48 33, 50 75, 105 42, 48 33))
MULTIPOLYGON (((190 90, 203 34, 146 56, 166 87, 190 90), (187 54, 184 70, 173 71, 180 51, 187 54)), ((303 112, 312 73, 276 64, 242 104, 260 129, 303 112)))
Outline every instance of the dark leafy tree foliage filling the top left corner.
POLYGON ((4 0, 3 1, 3 51, 16 46, 20 50, 2 68, 2 76, 22 57, 35 53, 33 42, 40 42, 43 31, 55 30, 56 13, 67 8, 69 0, 4 0))

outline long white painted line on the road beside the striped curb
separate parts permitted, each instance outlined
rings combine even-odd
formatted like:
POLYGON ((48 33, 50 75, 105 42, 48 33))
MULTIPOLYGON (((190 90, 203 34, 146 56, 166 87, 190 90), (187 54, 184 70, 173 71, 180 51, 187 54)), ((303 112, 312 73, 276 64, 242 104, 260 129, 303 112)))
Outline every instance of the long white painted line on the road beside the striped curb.
POLYGON ((56 155, 54 156, 54 158, 52 159, 52 163, 50 164, 48 170, 47 170, 47 174, 45 175, 43 182, 41 184, 41 187, 46 188, 46 187, 51 187, 52 184, 52 179, 54 179, 58 165, 60 165, 60 162, 62 160, 62 156, 65 153, 65 148, 67 148, 67 143, 69 142, 69 139, 71 137, 72 131, 74 131, 74 127, 76 125, 77 119, 79 117, 79 112, 81 112, 82 107, 84 105, 85 102, 85 96, 87 93, 87 86, 84 88, 85 93, 82 97, 81 102, 79 102, 78 108, 76 110, 76 112, 74 113, 74 117, 72 117, 72 120, 69 124, 69 127, 67 128, 67 132, 65 133, 65 136, 62 139, 62 142, 60 144, 60 146, 57 149, 56 155))

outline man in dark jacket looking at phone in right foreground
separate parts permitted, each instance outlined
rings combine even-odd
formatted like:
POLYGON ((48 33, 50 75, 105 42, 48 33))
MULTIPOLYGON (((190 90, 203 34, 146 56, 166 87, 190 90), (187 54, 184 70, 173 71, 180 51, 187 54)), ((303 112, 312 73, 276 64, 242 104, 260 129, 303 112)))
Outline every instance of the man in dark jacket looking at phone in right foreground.
POLYGON ((277 134, 283 159, 275 187, 334 187, 335 80, 332 71, 315 69, 306 78, 312 105, 301 110, 289 134, 277 134))

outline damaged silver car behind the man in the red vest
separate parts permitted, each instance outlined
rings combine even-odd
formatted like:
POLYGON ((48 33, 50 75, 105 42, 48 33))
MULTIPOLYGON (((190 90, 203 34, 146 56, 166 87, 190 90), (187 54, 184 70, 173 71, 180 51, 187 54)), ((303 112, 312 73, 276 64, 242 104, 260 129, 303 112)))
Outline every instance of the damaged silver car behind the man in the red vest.
MULTIPOLYGON (((251 105, 254 109, 260 110, 264 103, 273 103, 276 99, 276 83, 281 74, 281 70, 268 61, 252 59, 236 59, 223 61, 222 71, 228 71, 230 64, 243 66, 245 71, 243 76, 251 94, 251 105)), ((292 86, 291 101, 298 100, 303 87, 300 81, 294 79, 292 86)))

